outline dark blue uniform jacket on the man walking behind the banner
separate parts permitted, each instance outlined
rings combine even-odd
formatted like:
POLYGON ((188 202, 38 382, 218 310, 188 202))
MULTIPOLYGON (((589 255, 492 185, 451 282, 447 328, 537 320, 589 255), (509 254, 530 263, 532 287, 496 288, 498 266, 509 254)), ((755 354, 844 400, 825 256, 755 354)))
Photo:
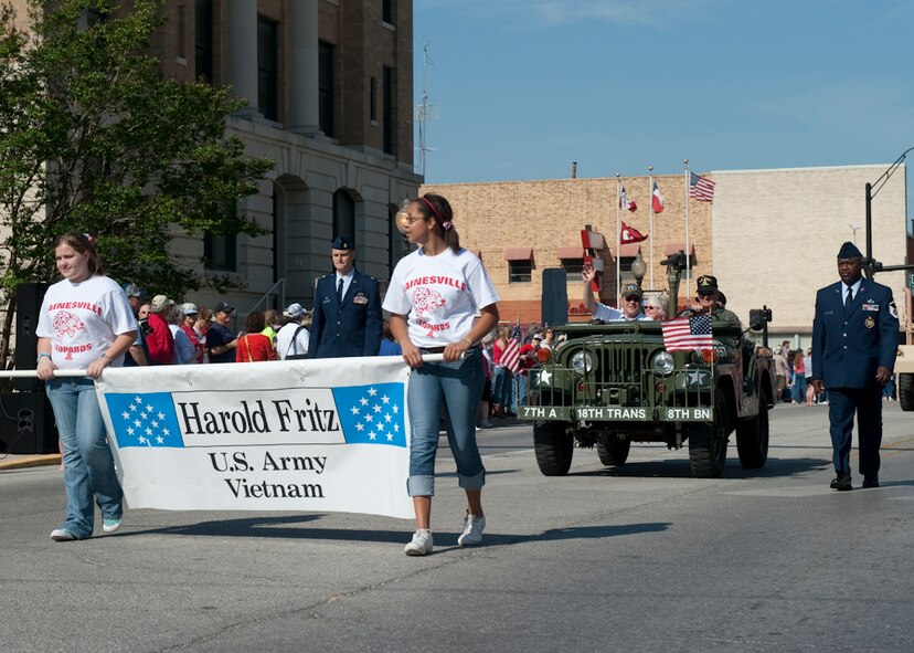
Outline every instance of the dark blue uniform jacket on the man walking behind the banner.
POLYGON ((308 358, 376 356, 381 347, 381 292, 378 280, 358 270, 340 303, 336 274, 318 280, 308 358))

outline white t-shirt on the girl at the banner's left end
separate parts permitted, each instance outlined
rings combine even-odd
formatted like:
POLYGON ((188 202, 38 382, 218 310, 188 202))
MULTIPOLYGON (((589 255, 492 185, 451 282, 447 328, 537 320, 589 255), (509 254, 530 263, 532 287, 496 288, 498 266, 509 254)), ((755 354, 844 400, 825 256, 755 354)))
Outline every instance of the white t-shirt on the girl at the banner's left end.
MULTIPOLYGON (((51 360, 59 369, 84 369, 117 336, 138 329, 120 286, 96 275, 79 283, 63 280, 47 288, 35 334, 51 339, 51 360)), ((111 366, 123 362, 120 356, 111 366)))

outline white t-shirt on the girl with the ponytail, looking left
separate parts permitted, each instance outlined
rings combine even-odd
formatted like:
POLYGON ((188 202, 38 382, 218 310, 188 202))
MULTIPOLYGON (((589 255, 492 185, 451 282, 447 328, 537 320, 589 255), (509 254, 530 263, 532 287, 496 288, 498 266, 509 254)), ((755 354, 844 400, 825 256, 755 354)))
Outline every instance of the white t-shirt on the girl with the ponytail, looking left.
POLYGON ((416 347, 443 347, 468 336, 477 312, 496 302, 498 294, 476 254, 448 247, 427 256, 418 249, 396 264, 383 308, 408 315, 416 347))

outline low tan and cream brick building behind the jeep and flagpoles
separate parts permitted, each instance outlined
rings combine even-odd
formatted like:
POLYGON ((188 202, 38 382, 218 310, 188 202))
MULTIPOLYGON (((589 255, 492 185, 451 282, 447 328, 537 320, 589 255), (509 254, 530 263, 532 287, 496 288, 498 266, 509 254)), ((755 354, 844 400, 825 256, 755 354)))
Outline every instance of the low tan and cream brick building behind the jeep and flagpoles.
MULTIPOLYGON (((751 308, 767 305, 774 313, 774 338, 807 344, 816 291, 838 280, 835 256, 840 244, 855 239, 864 250, 864 186, 886 167, 713 171, 703 175, 716 183, 713 202, 688 199, 683 175, 655 177, 665 209, 653 217, 652 238, 623 245, 623 278, 640 252, 648 264, 644 287, 666 288, 660 262, 684 249, 688 202, 693 267, 692 282, 680 286, 680 305, 693 296, 699 275, 714 274, 727 308, 744 322, 751 308)), ((902 167, 872 206, 873 255, 886 265, 907 262, 905 177, 902 167)), ((638 207, 634 213, 621 211, 621 220, 648 234, 649 178, 623 177, 618 182, 638 207)), ((540 322, 542 271, 549 267, 567 270, 570 312, 580 312, 580 232, 585 225, 607 241, 599 298, 615 305, 616 178, 426 185, 422 192, 438 192, 450 201, 461 242, 480 252, 496 284, 502 319, 540 322)), ((902 324, 910 325, 905 278, 905 273, 891 272, 878 281, 892 287, 902 324)))

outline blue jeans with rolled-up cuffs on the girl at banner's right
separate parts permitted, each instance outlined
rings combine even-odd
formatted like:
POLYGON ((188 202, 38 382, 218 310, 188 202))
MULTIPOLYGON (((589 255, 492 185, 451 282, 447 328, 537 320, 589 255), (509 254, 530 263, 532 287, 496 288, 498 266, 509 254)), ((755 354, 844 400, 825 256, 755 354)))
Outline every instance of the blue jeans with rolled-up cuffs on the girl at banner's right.
POLYGON ((410 377, 411 449, 410 496, 435 494, 435 453, 438 449, 438 414, 444 408, 447 443, 457 463, 464 489, 480 489, 486 468, 476 446, 476 412, 486 375, 479 349, 469 349, 456 362, 423 362, 410 377))

